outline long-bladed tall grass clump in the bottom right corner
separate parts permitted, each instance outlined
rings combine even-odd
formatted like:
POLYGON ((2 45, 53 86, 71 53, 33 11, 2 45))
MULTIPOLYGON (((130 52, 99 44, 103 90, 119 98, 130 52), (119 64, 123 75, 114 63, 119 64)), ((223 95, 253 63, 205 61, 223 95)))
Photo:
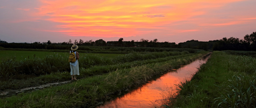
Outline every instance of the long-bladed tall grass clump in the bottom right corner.
POLYGON ((234 75, 231 80, 228 80, 228 86, 220 97, 214 99, 214 103, 218 103, 218 107, 221 108, 255 108, 255 74, 253 76, 234 75))

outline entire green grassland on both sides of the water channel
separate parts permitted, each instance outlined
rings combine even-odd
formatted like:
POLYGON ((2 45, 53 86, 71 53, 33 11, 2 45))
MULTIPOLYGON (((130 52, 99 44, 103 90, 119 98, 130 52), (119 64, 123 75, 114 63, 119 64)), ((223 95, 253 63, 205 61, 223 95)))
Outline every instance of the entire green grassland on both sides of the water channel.
MULTIPOLYGON (((67 53, 26 50, 1 51, 2 56, 8 56, 6 60, 2 59, 0 65, 0 90, 70 81, 67 53), (29 54, 29 57, 24 54, 29 54)), ((1 96, 0 108, 95 107, 109 100, 113 94, 136 88, 152 77, 177 69, 208 53, 202 50, 192 52, 178 49, 128 54, 111 54, 111 51, 108 54, 80 53, 77 81, 16 95, 9 93, 1 96)), ((162 107, 254 108, 255 55, 256 52, 214 51, 191 81, 181 82, 176 85, 178 92, 175 95, 165 96, 170 100, 165 101, 162 107)))

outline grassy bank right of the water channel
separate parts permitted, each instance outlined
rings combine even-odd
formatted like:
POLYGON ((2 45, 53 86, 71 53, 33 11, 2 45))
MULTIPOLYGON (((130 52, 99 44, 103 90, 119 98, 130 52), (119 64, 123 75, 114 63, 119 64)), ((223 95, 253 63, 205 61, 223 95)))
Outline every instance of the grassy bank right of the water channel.
POLYGON ((179 95, 170 99, 169 107, 255 108, 256 59, 235 52, 245 53, 214 51, 191 81, 177 85, 179 95))

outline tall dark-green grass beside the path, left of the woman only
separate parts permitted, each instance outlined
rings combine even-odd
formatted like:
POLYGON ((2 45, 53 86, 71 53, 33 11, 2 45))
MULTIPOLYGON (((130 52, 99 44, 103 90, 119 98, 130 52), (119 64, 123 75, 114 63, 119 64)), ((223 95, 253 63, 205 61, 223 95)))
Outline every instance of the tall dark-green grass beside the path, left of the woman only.
POLYGON ((2 61, 0 65, 0 77, 2 80, 8 80, 12 77, 19 77, 18 75, 47 75, 52 72, 66 71, 69 65, 63 65, 66 61, 64 56, 53 54, 47 55, 45 58, 25 58, 24 60, 16 61, 8 59, 2 61))

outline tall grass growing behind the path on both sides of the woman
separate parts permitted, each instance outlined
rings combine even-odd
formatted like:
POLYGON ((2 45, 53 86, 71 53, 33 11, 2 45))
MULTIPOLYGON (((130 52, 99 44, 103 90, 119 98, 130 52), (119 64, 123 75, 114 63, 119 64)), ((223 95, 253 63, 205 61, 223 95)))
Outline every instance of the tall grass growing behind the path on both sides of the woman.
MULTIPOLYGON (((90 68, 99 65, 112 65, 136 60, 156 59, 171 55, 186 54, 186 52, 159 52, 159 53, 130 53, 120 55, 116 58, 104 58, 99 55, 84 55, 79 59, 80 68, 90 68)), ((31 58, 31 57, 30 57, 31 58)), ((54 72, 70 71, 67 57, 59 54, 47 55, 45 58, 33 59, 25 58, 17 61, 8 59, 0 64, 0 77, 2 80, 8 80, 19 75, 47 75, 54 72)))

